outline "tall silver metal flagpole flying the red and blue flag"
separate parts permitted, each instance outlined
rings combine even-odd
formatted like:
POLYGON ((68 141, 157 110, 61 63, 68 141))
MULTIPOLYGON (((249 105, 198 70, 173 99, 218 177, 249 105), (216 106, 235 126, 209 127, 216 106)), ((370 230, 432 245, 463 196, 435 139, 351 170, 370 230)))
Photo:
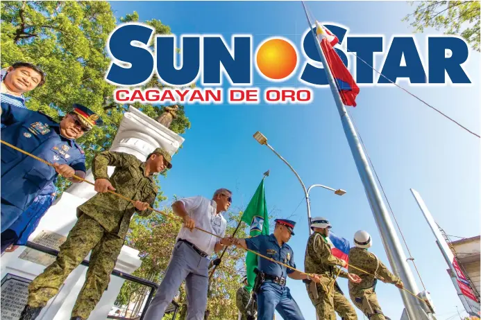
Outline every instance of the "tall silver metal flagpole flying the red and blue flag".
MULTIPOLYGON (((386 250, 387 258, 389 258, 389 263, 391 264, 394 273, 400 276, 400 279, 403 281, 406 289, 410 290, 410 292, 414 292, 414 294, 418 294, 418 287, 414 281, 410 267, 407 265, 406 256, 403 248, 400 245, 398 235, 396 234, 391 218, 389 217, 389 213, 387 212, 387 208, 382 200, 378 186, 375 184, 373 173, 369 167, 364 150, 362 150, 357 132, 355 131, 351 118, 346 112, 346 107, 344 107, 344 103, 342 103, 341 96, 339 96, 337 85, 335 84, 330 67, 326 62, 326 57, 323 54, 321 45, 319 44, 319 41, 317 41, 317 37, 314 35, 314 31, 312 30, 312 22, 310 21, 309 15, 307 15, 307 9, 305 8, 304 1, 302 1, 302 3, 305 16, 307 17, 307 23, 309 24, 312 36, 314 37, 314 42, 316 42, 317 51, 319 51, 319 55, 321 56, 323 68, 326 70, 332 96, 334 97, 337 110, 339 111, 339 116, 341 117, 342 127, 344 128, 344 133, 346 134, 349 147, 351 148, 362 184, 364 184, 364 190, 366 192, 367 199, 369 200, 371 211, 373 211, 374 220, 378 226, 382 238, 382 244, 386 250)), ((409 314, 411 320, 430 319, 424 312, 423 307, 419 304, 419 301, 414 296, 407 294, 407 292, 404 290, 400 290, 400 294, 403 298, 407 314, 409 314)))

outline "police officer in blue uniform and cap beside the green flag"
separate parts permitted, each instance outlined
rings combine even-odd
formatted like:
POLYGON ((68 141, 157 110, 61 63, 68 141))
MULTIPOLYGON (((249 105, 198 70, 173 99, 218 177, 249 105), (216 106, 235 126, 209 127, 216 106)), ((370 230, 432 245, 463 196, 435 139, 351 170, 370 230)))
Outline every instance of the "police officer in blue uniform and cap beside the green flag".
MULTIPOLYGON (((294 235, 296 222, 276 219, 276 228, 271 235, 258 235, 253 238, 224 238, 223 243, 256 251, 263 256, 296 268, 294 251, 287 241, 294 235)), ((303 320, 303 314, 296 301, 286 287, 287 276, 296 280, 307 280, 319 283, 318 275, 308 276, 293 269, 274 263, 270 260, 258 259, 258 277, 264 279, 258 290, 258 320, 272 320, 277 310, 282 319, 303 320)), ((257 281, 257 280, 256 280, 257 281)))

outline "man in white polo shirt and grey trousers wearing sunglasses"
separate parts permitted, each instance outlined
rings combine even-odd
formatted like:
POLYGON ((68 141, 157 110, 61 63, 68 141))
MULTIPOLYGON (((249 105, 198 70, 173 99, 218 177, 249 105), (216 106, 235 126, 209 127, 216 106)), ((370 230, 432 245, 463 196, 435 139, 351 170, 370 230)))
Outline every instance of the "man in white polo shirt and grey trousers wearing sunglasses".
POLYGON ((223 248, 221 240, 213 235, 194 229, 212 232, 223 238, 226 235, 226 220, 220 214, 227 211, 232 202, 232 192, 216 190, 212 200, 205 197, 189 197, 172 204, 174 213, 184 220, 177 235, 169 267, 162 283, 152 299, 144 320, 160 320, 165 309, 185 280, 187 291, 186 320, 203 320, 207 307, 209 258, 223 248))

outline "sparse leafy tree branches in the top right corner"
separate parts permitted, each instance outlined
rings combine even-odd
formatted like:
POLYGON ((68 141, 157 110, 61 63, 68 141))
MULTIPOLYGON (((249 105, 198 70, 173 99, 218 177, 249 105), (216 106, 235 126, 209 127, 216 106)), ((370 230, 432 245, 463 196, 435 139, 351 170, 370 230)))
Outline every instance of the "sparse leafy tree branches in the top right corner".
POLYGON ((480 51, 480 1, 412 1, 416 9, 404 17, 422 33, 425 28, 460 35, 471 47, 480 51))

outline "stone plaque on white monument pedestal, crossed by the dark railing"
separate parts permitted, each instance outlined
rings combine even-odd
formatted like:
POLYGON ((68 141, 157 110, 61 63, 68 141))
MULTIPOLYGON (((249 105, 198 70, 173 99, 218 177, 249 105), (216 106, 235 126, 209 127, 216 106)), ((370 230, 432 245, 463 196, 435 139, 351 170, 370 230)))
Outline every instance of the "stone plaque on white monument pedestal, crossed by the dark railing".
MULTIPOLYGON (((56 249, 58 251, 60 245, 62 245, 65 240, 67 240, 65 235, 60 235, 49 230, 42 230, 42 232, 38 233, 32 242, 35 242, 38 245, 49 247, 51 249, 56 249)), ((37 263, 39 265, 44 265, 45 267, 51 265, 51 263, 53 263, 53 261, 56 259, 55 256, 44 254, 43 252, 31 248, 26 248, 24 252, 20 254, 19 258, 37 263)))

